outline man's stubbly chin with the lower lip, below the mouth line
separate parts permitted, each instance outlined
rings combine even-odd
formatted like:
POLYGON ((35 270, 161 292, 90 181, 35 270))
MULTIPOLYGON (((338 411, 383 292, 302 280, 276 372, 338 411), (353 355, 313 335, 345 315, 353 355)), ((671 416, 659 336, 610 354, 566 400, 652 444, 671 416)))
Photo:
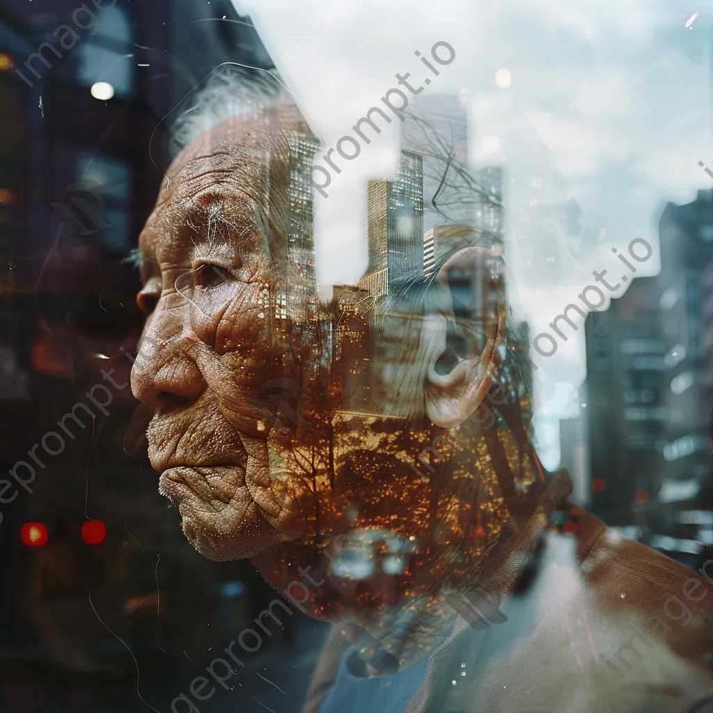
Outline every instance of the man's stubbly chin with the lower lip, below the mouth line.
POLYGON ((159 492, 178 507, 188 541, 210 560, 248 558, 292 539, 275 526, 282 513, 274 500, 251 492, 240 466, 169 468, 159 492))

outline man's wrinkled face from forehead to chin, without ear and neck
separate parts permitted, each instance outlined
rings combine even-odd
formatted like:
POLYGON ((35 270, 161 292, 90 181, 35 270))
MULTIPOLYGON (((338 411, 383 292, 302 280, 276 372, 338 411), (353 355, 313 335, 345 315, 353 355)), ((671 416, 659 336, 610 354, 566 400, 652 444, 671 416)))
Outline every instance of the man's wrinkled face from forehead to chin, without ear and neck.
POLYGON ((193 545, 218 560, 304 529, 304 488, 270 468, 274 414, 255 399, 275 374, 267 186, 284 171, 267 159, 279 162, 284 146, 273 122, 232 120, 186 148, 139 240, 148 356, 132 389, 154 409, 149 457, 161 491, 193 545))

